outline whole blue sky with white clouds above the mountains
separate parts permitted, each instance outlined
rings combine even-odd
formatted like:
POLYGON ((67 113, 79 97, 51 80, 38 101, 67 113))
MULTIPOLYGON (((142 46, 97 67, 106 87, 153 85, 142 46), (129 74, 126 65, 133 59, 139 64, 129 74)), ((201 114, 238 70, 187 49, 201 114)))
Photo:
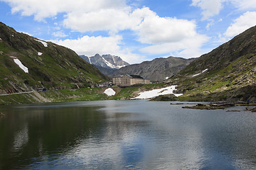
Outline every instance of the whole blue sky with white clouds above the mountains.
POLYGON ((256 25, 256 0, 0 0, 0 21, 78 55, 200 57, 256 25))

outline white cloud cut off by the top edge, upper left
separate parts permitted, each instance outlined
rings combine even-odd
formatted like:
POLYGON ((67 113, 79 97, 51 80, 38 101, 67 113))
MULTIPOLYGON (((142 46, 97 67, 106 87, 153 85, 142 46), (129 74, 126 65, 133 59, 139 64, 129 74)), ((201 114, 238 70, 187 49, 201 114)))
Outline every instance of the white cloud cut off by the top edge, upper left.
POLYGON ((37 21, 56 16, 57 13, 77 13, 97 11, 101 8, 119 8, 125 6, 124 0, 1 0, 10 4, 13 13, 23 16, 35 16, 37 21))

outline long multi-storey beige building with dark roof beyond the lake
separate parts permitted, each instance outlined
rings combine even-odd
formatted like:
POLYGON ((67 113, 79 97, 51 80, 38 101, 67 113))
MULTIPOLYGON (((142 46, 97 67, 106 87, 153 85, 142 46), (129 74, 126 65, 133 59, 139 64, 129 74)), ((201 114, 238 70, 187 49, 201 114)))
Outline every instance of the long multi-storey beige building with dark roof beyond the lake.
POLYGON ((122 77, 113 77, 113 84, 115 86, 132 86, 134 84, 149 84, 149 79, 144 79, 138 75, 125 74, 122 77))

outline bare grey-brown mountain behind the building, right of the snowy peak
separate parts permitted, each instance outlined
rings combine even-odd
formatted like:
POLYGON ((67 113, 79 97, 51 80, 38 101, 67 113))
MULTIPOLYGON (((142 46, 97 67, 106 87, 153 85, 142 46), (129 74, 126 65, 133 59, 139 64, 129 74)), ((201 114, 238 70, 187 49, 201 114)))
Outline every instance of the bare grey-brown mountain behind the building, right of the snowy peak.
POLYGON ((178 57, 156 58, 152 61, 142 62, 141 64, 131 64, 118 69, 112 74, 117 77, 122 74, 140 75, 151 81, 163 81, 185 68, 194 59, 183 59, 178 57))

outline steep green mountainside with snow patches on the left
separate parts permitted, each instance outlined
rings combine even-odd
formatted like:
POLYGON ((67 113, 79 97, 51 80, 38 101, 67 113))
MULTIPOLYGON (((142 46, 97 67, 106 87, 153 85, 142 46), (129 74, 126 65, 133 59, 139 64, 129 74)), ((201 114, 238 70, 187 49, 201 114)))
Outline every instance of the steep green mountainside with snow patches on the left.
POLYGON ((93 86, 107 79, 73 50, 0 23, 0 94, 93 86))

